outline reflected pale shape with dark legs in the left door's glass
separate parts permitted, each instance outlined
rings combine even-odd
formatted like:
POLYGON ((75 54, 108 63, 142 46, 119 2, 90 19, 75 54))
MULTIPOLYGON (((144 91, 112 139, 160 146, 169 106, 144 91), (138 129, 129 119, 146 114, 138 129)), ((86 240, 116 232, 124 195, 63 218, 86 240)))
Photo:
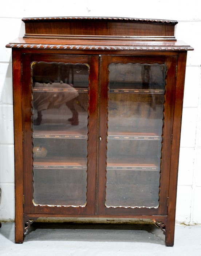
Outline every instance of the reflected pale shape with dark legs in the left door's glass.
POLYGON ((63 83, 34 83, 34 88, 46 88, 46 91, 33 91, 33 107, 37 110, 37 118, 33 121, 34 125, 40 125, 42 122, 42 111, 52 108, 60 108, 64 103, 71 110, 72 117, 68 119, 71 125, 78 125, 78 112, 75 109, 74 103, 78 98, 78 92, 72 84, 63 83), (56 91, 52 92, 52 88, 67 89, 67 92, 56 91), (50 91, 48 91, 50 89, 50 91))

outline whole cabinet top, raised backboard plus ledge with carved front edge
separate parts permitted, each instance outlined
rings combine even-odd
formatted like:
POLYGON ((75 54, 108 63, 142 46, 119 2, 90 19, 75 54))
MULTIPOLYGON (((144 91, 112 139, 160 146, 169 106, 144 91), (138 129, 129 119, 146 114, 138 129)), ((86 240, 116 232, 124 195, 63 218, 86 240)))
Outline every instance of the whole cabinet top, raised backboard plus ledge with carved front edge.
POLYGON ((23 18, 22 21, 25 23, 24 37, 6 47, 143 50, 142 47, 147 46, 146 50, 193 49, 183 42, 177 42, 174 36, 176 20, 44 17, 23 18))

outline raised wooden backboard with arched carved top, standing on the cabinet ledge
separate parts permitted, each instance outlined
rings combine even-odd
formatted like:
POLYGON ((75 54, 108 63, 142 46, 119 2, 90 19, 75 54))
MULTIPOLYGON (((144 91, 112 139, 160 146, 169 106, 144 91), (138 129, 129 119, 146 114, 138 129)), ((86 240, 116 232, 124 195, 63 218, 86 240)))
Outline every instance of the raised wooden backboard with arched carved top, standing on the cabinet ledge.
POLYGON ((24 37, 173 37, 174 20, 132 18, 24 18, 24 37), (72 30, 73 27, 73 30, 72 30), (44 34, 45 31, 45 34, 44 34), (126 33, 126 34, 125 34, 126 33))

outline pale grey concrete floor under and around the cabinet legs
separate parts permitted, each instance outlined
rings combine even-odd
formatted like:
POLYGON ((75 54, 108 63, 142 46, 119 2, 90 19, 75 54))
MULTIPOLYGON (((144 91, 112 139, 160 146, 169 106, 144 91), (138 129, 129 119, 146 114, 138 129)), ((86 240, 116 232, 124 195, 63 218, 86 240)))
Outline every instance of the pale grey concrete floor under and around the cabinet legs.
POLYGON ((33 223, 23 244, 14 243, 14 223, 2 223, 0 255, 5 256, 201 256, 201 226, 176 225, 173 247, 154 225, 33 223))

